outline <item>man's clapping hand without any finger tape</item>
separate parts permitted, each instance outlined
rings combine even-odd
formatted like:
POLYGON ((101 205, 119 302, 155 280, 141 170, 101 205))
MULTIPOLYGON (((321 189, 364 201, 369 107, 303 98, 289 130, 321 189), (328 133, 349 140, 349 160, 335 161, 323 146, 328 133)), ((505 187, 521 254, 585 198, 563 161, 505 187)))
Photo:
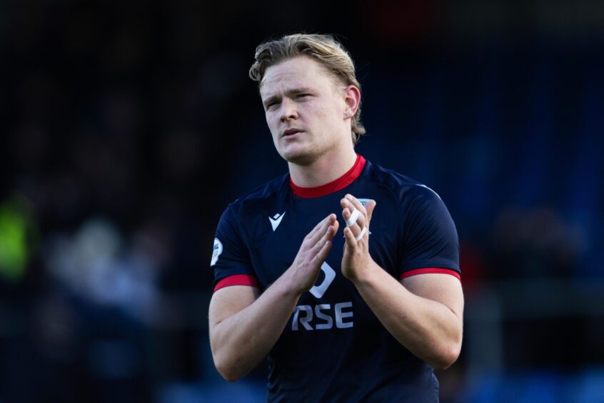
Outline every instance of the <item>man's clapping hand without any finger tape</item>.
POLYGON ((315 285, 339 225, 336 214, 329 214, 304 238, 296 259, 288 269, 291 287, 297 294, 303 294, 315 285))

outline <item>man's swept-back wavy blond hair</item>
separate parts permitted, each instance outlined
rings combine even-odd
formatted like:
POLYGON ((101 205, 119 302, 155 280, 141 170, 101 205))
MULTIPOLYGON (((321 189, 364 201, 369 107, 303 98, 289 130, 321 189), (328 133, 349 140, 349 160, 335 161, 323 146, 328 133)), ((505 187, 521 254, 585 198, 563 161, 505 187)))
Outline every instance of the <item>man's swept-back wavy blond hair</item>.
MULTIPOLYGON (((353 85, 361 91, 354 71, 354 63, 348 51, 331 35, 292 34, 280 39, 270 39, 256 48, 249 74, 261 86, 266 69, 295 56, 311 56, 321 63, 330 74, 345 86, 353 85)), ((353 144, 356 144, 365 128, 361 124, 361 103, 351 121, 353 144)))

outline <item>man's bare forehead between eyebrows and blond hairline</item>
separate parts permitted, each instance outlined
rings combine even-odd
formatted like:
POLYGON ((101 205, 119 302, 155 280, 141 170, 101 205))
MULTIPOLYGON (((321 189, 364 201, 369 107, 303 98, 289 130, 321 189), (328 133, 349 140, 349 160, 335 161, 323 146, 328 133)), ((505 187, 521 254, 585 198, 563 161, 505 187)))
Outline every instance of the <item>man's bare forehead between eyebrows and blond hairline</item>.
POLYGON ((268 67, 260 86, 260 95, 296 87, 335 86, 336 79, 310 56, 296 56, 268 67))

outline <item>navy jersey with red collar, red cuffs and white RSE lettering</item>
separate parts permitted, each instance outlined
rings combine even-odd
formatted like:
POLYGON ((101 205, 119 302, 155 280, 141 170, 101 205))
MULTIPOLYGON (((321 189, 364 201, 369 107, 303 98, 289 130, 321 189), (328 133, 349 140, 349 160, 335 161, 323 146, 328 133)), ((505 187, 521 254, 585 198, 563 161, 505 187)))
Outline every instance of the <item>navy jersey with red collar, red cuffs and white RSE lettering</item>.
POLYGON ((214 242, 214 287, 266 289, 291 266, 306 234, 335 213, 341 229, 316 285, 301 296, 268 354, 268 400, 438 402, 433 369, 391 336, 341 273, 340 200, 349 193, 377 201, 369 252, 396 279, 460 277, 453 220, 434 191, 361 156, 345 176, 351 183, 339 181, 346 186, 331 191, 332 185, 297 188, 287 174, 230 204, 214 242))

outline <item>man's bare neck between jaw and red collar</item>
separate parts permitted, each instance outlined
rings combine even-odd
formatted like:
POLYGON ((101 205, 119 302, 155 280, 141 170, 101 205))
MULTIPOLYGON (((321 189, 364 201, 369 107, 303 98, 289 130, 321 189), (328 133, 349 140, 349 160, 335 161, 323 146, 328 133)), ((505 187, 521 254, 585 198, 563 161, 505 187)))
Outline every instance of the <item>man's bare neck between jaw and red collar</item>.
POLYGON ((301 187, 316 187, 335 181, 352 168, 356 152, 351 144, 338 153, 326 153, 308 165, 288 162, 289 174, 294 184, 301 187))

